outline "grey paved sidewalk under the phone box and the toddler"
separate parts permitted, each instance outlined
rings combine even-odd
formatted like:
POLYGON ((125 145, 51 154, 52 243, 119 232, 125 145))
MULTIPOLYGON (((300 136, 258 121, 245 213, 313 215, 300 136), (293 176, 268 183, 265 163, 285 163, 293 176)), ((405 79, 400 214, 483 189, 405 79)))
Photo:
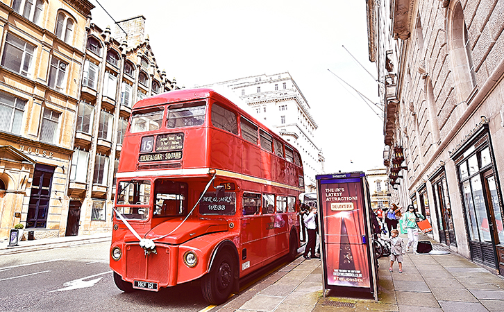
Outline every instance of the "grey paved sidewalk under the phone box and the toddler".
POLYGON ((388 258, 379 263, 378 302, 324 298, 321 261, 299 257, 211 311, 504 311, 504 279, 459 254, 405 254, 402 274, 397 263, 389 272, 388 258))

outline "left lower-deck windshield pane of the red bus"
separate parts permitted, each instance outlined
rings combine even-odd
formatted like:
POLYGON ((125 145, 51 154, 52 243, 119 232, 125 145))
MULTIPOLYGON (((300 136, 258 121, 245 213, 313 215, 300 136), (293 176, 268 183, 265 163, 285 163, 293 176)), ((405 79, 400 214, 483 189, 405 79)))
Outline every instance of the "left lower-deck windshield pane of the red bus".
POLYGON ((124 218, 149 218, 151 182, 149 180, 121 181, 117 186, 116 208, 124 218))

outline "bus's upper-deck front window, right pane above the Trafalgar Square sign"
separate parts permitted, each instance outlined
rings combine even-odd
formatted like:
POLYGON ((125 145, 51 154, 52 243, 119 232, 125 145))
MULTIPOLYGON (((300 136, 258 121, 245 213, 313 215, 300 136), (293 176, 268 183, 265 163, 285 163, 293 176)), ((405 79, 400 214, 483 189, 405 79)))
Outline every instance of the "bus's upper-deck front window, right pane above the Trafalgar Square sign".
POLYGON ((205 122, 205 112, 205 102, 191 103, 190 106, 171 105, 168 107, 166 126, 167 128, 181 128, 192 125, 203 125, 205 122))

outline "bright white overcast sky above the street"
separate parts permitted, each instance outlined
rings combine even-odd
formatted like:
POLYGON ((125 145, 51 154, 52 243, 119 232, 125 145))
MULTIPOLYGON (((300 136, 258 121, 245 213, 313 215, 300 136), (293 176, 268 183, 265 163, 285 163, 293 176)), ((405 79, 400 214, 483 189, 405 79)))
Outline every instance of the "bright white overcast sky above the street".
POLYGON ((364 0, 89 1, 92 23, 112 33, 101 6, 115 21, 143 15, 158 67, 179 87, 288 71, 318 125, 324 173, 384 168, 364 0))

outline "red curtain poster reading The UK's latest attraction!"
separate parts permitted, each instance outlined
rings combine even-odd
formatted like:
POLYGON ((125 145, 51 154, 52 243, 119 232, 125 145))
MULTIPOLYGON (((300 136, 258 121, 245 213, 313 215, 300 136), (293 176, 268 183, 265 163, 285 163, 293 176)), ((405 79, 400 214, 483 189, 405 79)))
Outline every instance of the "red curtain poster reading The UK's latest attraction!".
POLYGON ((362 181, 349 177, 320 183, 327 284, 369 288, 362 181))

